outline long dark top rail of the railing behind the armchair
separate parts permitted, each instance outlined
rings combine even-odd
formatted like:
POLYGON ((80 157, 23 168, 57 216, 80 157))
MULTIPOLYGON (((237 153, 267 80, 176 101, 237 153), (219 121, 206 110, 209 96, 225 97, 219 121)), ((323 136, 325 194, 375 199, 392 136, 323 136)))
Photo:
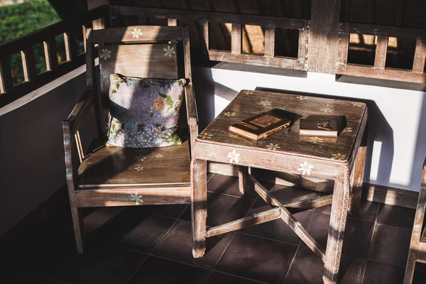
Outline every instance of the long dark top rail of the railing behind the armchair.
POLYGON ((257 16, 242 13, 219 13, 210 11, 188 11, 178 9, 157 9, 133 6, 110 6, 113 13, 123 16, 155 16, 155 18, 185 18, 193 21, 219 21, 220 23, 238 23, 241 25, 258 25, 263 27, 305 28, 310 21, 302 18, 284 18, 257 16))

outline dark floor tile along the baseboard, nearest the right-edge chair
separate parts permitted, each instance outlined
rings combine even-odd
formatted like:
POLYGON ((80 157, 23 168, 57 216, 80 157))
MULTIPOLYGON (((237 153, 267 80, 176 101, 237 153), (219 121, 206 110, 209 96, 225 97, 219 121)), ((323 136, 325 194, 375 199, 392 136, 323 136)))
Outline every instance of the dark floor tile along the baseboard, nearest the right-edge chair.
POLYGON ((377 215, 379 224, 413 229, 415 209, 380 204, 377 215))

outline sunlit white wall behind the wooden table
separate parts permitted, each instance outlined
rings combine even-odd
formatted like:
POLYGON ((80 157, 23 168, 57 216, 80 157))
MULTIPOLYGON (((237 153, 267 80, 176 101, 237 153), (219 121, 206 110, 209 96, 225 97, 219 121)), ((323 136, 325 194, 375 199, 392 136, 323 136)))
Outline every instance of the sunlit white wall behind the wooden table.
MULTIPOLYGON (((335 75, 308 72, 297 73, 302 75, 297 77, 294 71, 223 62, 212 68, 197 68, 195 74, 202 128, 241 89, 272 88, 366 102, 370 129, 364 180, 376 185, 419 191, 426 155, 425 85, 383 80, 354 84, 343 82, 346 80, 343 77, 337 82, 335 75)), ((366 82, 356 78, 351 80, 366 82)))

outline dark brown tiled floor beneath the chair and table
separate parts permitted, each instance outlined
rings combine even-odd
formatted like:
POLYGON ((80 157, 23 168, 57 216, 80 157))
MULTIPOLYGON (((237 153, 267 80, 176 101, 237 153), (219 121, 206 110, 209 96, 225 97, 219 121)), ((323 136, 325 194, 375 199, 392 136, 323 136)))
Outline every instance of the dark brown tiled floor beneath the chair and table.
MULTIPOLYGON (((207 225, 269 207, 255 194, 241 197, 236 178, 210 176, 207 225)), ((317 192, 265 185, 283 204, 317 192)), ((192 258, 187 205, 87 210, 86 251, 77 255, 69 214, 28 236, 12 255, 0 255, 0 283, 322 283, 320 258, 280 220, 207 239, 203 258, 192 258)), ((362 202, 348 216, 340 283, 402 283, 414 210, 362 202)), ((329 207, 295 214, 325 246, 329 207)), ((413 283, 426 283, 417 265, 413 283)))

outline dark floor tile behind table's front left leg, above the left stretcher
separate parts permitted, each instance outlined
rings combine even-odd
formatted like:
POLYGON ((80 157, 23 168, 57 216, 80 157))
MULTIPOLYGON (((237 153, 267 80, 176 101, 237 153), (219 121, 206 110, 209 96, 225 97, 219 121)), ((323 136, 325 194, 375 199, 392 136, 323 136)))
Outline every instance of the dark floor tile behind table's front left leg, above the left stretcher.
MULTIPOLYGON (((253 200, 248 198, 219 195, 217 193, 208 192, 207 226, 218 226, 239 218, 244 218, 247 212, 249 212, 252 204, 253 200)), ((185 210, 181 219, 190 222, 190 207, 185 210)))

